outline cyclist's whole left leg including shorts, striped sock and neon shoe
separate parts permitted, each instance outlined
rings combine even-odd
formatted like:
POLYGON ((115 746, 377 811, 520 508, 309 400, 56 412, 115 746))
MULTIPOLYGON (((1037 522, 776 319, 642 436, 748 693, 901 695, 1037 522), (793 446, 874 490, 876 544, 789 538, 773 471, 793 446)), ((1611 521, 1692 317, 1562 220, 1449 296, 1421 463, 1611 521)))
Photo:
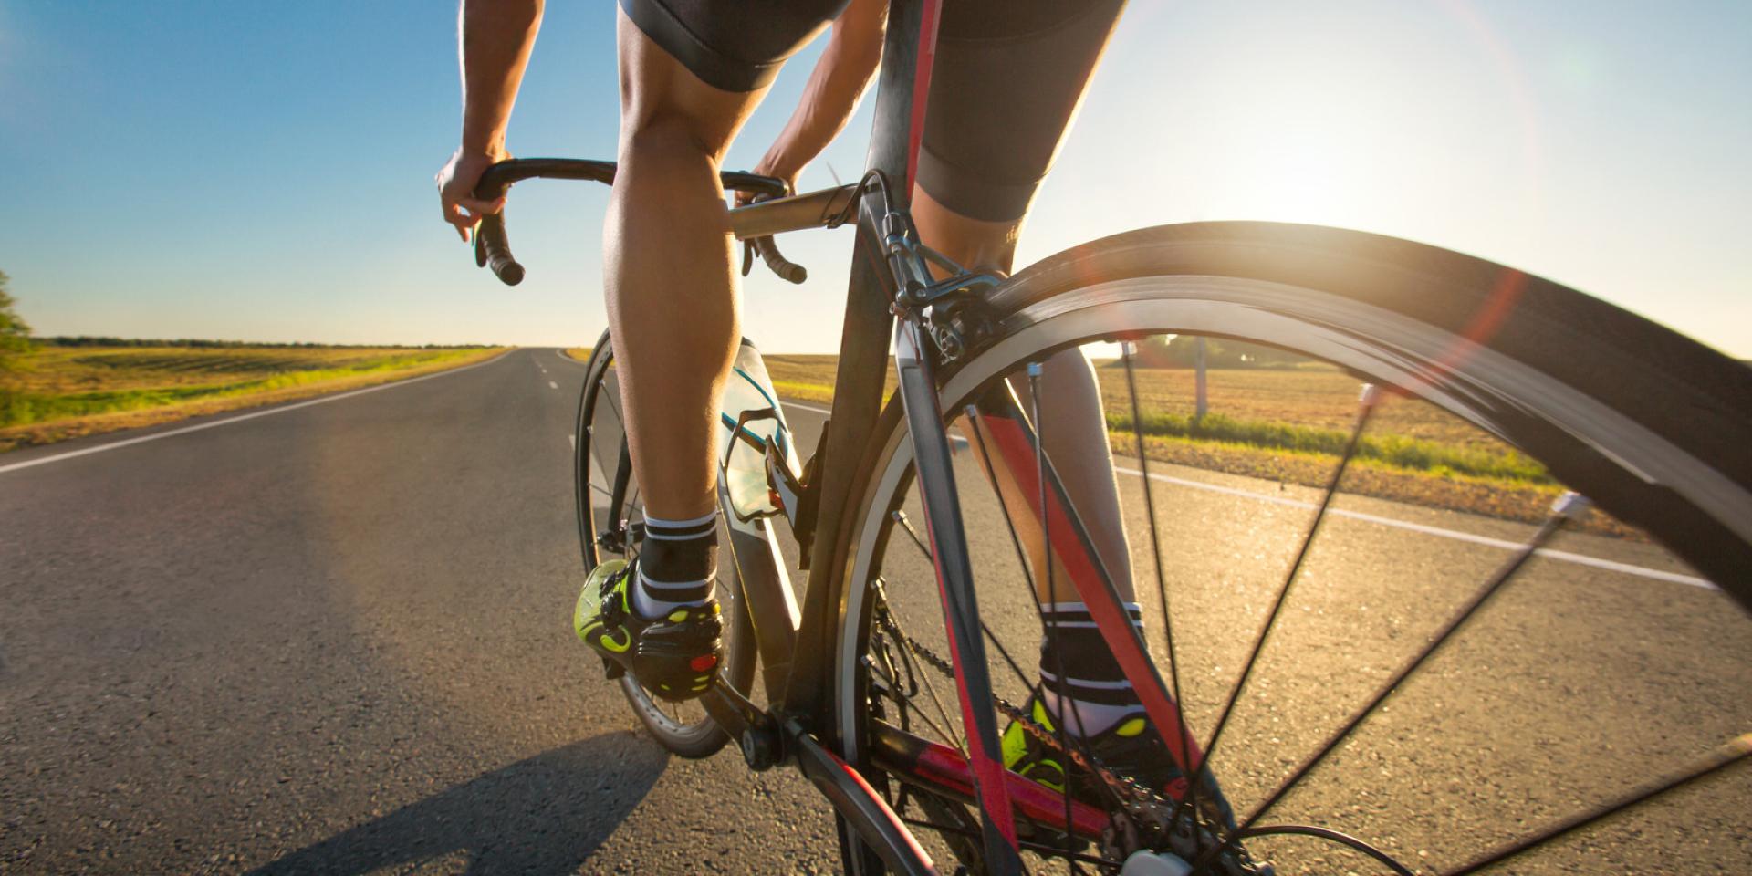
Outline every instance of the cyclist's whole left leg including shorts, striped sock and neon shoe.
POLYGON ((632 669, 668 699, 704 692, 720 648, 711 449, 739 328, 718 163, 785 56, 832 18, 771 2, 741 18, 690 0, 622 0, 617 12, 603 286, 645 541, 632 566, 592 569, 573 627, 611 675, 632 669))

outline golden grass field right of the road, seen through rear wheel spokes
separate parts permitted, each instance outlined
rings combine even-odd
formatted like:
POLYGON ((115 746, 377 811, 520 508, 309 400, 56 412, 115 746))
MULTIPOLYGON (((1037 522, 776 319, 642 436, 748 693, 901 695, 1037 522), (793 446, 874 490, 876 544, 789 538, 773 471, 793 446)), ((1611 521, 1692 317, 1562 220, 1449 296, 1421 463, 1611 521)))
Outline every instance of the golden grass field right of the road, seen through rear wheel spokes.
MULTIPOLYGON (((799 401, 832 399, 836 356, 767 356, 776 389, 799 401)), ((1116 454, 1137 456, 1130 396, 1118 363, 1097 363, 1116 454)), ((1209 413, 1195 419, 1193 371, 1137 370, 1149 459, 1323 487, 1356 415, 1360 384, 1337 368, 1211 370, 1209 413)), ((894 391, 894 375, 888 375, 894 391)), ((1377 408, 1346 473, 1346 492, 1435 508, 1542 520, 1561 487, 1545 470, 1477 426, 1417 399, 1377 408)), ((1601 513, 1587 529, 1636 536, 1601 513)))

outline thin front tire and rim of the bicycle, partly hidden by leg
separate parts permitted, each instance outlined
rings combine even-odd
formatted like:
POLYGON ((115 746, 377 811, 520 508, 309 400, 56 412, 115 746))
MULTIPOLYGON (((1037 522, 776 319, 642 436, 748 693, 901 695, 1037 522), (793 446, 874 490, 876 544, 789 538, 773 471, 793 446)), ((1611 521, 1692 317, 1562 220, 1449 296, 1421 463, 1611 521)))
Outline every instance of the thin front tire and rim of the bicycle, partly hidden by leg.
MULTIPOLYGON (((589 475, 590 459, 604 445, 615 447, 618 456, 618 447, 625 442, 624 429, 615 429, 613 436, 601 434, 596 420, 596 405, 603 398, 601 392, 606 389, 613 392, 608 385, 608 370, 613 363, 613 349, 608 340, 608 333, 597 340, 596 347, 590 350, 590 361, 585 364, 583 391, 578 398, 578 422, 576 436, 578 445, 573 456, 573 482, 575 482, 575 501, 578 515, 578 547, 583 557, 585 576, 596 569, 601 561, 601 547, 597 545, 597 534, 601 527, 596 522, 596 505, 592 499, 592 480, 589 475)), ((613 413, 611 413, 613 415, 613 413)), ((615 417, 615 426, 618 426, 618 415, 615 417)), ((599 470, 606 470, 597 463, 599 470)), ((613 477, 613 475, 610 475, 613 477)), ((720 601, 725 604, 725 636, 724 636, 724 675, 736 685, 738 690, 748 694, 753 675, 755 675, 755 645, 753 645, 753 622, 748 617, 748 608, 734 594, 741 592, 739 582, 736 580, 736 564, 729 562, 720 568, 720 601), (722 580, 722 576, 729 580, 722 580), (729 596, 727 596, 729 594, 729 596)), ((639 722, 646 731, 669 752, 687 757, 687 759, 704 759, 718 753, 725 743, 731 741, 729 734, 718 729, 711 717, 699 710, 697 715, 687 717, 680 715, 682 706, 669 704, 668 710, 664 703, 653 697, 648 690, 639 687, 638 680, 631 673, 620 676, 620 692, 627 697, 627 704, 632 706, 632 713, 638 715, 639 722), (675 710, 675 711, 669 711, 675 710)))

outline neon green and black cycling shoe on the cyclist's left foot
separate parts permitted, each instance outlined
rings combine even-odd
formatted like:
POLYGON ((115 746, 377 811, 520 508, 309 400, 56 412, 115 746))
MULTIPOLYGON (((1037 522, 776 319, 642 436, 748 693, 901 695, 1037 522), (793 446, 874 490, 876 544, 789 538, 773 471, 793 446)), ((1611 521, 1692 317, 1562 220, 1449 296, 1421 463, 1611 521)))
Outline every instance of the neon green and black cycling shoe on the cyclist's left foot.
POLYGON ((718 601, 680 606, 648 620, 632 610, 634 566, 615 559, 590 571, 571 613, 578 639, 603 655, 608 678, 632 673, 664 699, 694 699, 711 687, 722 653, 718 601))

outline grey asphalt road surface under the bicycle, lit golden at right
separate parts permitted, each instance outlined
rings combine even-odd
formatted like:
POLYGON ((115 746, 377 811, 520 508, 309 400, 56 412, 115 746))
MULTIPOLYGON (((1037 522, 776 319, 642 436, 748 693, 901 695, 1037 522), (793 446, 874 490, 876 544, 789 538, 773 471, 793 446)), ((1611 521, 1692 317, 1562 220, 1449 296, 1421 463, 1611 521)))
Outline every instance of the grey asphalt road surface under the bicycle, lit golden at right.
MULTIPOLYGON (((557 350, 515 350, 0 456, 0 872, 832 871, 827 808, 799 776, 666 757, 571 638, 582 378, 557 350)), ((790 417, 813 447, 820 413, 790 417)), ((1310 496, 1160 475, 1153 498, 1177 510, 1167 543, 1221 545, 1176 554, 1176 575, 1200 582, 1176 618, 1202 648, 1184 680, 1198 724, 1310 496)), ((981 568, 1013 562, 995 508, 964 487, 981 568)), ((1121 477, 1137 533, 1141 487, 1121 477)), ((1260 704, 1237 711, 1216 759, 1237 802, 1270 790, 1501 561, 1480 540, 1524 531, 1344 508, 1395 524, 1353 515, 1321 536, 1295 625, 1251 689, 1260 704)), ((1656 575, 1538 561, 1282 815, 1391 837, 1437 867, 1752 729, 1743 613, 1647 545, 1558 547, 1656 575)), ((927 576, 908 562, 892 562, 895 601, 927 636, 927 576)), ((981 599, 1013 587, 988 580, 981 599)), ((1027 611, 992 617, 1030 653, 1027 611)), ((1517 872, 1752 869, 1747 771, 1684 794, 1517 872)), ((1368 871, 1282 848, 1321 858, 1291 872, 1368 871)))

